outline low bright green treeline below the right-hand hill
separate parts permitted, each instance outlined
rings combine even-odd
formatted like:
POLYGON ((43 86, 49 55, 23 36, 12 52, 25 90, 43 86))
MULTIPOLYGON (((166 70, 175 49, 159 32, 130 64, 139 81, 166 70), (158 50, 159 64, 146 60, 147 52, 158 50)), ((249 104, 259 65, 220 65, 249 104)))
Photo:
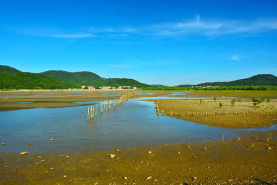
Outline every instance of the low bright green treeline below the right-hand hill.
POLYGON ((277 90, 277 86, 146 87, 143 90, 277 90))

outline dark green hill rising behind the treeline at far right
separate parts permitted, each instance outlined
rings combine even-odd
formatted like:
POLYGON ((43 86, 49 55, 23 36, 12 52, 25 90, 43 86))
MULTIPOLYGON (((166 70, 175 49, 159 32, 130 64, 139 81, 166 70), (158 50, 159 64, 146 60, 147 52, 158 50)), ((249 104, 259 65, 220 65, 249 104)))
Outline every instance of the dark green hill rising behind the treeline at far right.
POLYGON ((230 82, 206 82, 197 84, 196 86, 259 86, 259 85, 268 85, 268 86, 277 86, 277 77, 274 75, 255 75, 250 78, 240 79, 230 82))

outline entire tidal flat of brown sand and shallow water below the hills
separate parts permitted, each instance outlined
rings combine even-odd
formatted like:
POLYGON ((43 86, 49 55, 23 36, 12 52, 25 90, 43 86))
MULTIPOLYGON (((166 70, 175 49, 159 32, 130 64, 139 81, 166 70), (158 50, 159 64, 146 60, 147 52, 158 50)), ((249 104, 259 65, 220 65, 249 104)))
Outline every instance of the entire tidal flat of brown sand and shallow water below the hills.
POLYGON ((1 112, 1 142, 5 145, 0 147, 0 183, 276 183, 274 92, 255 93, 253 97, 258 98, 271 95, 271 100, 254 107, 248 91, 216 92, 216 101, 208 91, 206 96, 200 91, 143 91, 87 121, 88 105, 126 93, 129 91, 1 92, 1 108, 19 110, 1 112), (234 98, 237 101, 231 106, 234 98), (55 106, 58 108, 51 108, 55 106), (26 107, 31 109, 21 109, 26 107), (41 116, 24 118, 32 111, 41 116), (43 117, 45 121, 39 122, 43 117), (42 125, 44 129, 39 130, 42 125), (61 127, 64 132, 55 132, 61 127), (5 129, 18 129, 17 135, 5 129), (26 151, 28 154, 20 155, 26 151))

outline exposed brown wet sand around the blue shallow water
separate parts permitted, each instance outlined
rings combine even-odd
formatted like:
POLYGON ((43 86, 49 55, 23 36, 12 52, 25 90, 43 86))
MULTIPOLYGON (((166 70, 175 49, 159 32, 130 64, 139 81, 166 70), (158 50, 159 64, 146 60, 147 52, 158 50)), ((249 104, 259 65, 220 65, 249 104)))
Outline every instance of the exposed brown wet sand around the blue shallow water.
MULTIPOLYGON (((89 99, 86 101, 93 99, 89 95, 86 98, 89 99)), ((61 101, 62 97, 49 99, 61 101)), ((80 101, 84 97, 64 96, 66 101, 76 99, 80 101)), ((24 98, 22 101, 33 100, 24 98)), ((177 118, 210 126, 234 128, 276 124, 273 120, 276 114, 271 113, 181 116, 188 112, 204 112, 205 108, 211 112, 210 107, 217 113, 232 112, 233 109, 276 113, 271 106, 272 109, 265 110, 269 105, 276 107, 275 100, 260 104, 258 109, 249 107, 249 100, 235 102, 234 107, 227 106, 230 100, 222 101, 225 105, 222 108, 213 100, 204 100, 203 104, 199 101, 159 100, 159 109, 163 109, 166 116, 178 110, 177 118)), ((0 152, 0 184, 276 184, 277 132, 269 133, 239 132, 238 138, 223 138, 223 141, 216 138, 213 142, 168 143, 89 153, 29 153, 21 156, 0 152), (109 154, 115 157, 110 158, 109 154)), ((0 151, 1 147, 5 145, 0 146, 0 151)))

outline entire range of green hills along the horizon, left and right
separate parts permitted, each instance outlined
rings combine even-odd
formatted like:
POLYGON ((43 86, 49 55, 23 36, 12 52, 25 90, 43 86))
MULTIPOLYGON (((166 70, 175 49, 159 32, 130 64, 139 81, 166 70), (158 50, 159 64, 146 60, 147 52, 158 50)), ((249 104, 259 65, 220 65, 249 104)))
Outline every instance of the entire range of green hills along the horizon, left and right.
MULTIPOLYGON (((67 72, 49 70, 41 73, 22 72, 13 67, 0 65, 0 89, 65 89, 81 88, 81 86, 130 86, 130 87, 164 87, 164 85, 148 85, 127 78, 101 78, 93 72, 67 72)), ((250 78, 230 82, 206 82, 191 86, 277 86, 277 77, 274 75, 255 75, 250 78)))

